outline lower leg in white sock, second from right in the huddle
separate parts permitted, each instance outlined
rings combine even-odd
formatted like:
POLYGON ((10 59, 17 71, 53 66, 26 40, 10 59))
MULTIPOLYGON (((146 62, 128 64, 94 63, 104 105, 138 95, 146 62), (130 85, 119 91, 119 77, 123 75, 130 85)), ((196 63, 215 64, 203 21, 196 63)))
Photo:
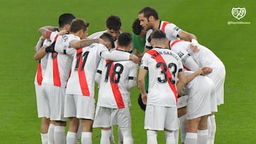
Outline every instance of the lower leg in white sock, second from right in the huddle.
POLYGON ((206 144, 208 140, 208 129, 207 129, 208 115, 202 116, 198 124, 198 144, 206 144))

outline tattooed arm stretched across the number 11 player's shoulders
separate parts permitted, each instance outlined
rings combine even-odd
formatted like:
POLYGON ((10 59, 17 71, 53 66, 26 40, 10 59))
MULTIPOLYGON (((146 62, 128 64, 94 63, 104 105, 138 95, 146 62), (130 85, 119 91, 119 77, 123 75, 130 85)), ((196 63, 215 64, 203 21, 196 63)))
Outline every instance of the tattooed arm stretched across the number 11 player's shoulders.
POLYGON ((78 49, 78 48, 84 48, 89 45, 92 45, 92 43, 102 43, 105 45, 105 41, 100 38, 95 39, 82 39, 82 40, 72 40, 70 41, 70 47, 78 49))

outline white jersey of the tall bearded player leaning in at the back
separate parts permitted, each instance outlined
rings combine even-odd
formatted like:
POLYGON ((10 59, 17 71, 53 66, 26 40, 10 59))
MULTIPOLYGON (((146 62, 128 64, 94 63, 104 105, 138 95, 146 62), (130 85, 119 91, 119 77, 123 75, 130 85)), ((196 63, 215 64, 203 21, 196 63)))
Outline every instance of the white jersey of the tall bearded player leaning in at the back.
MULTIPOLYGON (((181 28, 178 28, 174 23, 170 23, 168 21, 160 21, 159 30, 164 31, 166 33, 166 38, 168 40, 176 40, 179 39, 179 34, 181 34, 181 28)), ((149 42, 149 36, 153 32, 152 29, 146 32, 146 47, 151 47, 149 42)))

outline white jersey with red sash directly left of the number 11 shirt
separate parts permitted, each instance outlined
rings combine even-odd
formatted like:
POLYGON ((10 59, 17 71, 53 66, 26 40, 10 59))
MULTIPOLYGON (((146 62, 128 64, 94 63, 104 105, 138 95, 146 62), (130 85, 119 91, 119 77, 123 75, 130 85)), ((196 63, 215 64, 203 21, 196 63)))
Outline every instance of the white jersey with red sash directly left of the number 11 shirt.
POLYGON ((69 42, 80 40, 80 38, 73 34, 58 36, 58 33, 51 33, 50 40, 55 43, 55 51, 57 52, 51 52, 48 56, 43 84, 66 87, 75 54, 75 49, 69 47, 69 42), (52 40, 52 38, 54 39, 52 40))

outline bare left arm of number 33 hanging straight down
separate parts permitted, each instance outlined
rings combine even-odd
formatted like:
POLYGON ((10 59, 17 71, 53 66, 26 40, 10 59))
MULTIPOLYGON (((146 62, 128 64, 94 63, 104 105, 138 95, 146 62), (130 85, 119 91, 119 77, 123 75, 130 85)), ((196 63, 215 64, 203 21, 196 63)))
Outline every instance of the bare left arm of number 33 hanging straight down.
POLYGON ((146 104, 146 89, 145 89, 145 76, 147 74, 148 70, 147 67, 142 67, 139 69, 138 74, 138 87, 142 94, 142 102, 143 104, 146 104))

